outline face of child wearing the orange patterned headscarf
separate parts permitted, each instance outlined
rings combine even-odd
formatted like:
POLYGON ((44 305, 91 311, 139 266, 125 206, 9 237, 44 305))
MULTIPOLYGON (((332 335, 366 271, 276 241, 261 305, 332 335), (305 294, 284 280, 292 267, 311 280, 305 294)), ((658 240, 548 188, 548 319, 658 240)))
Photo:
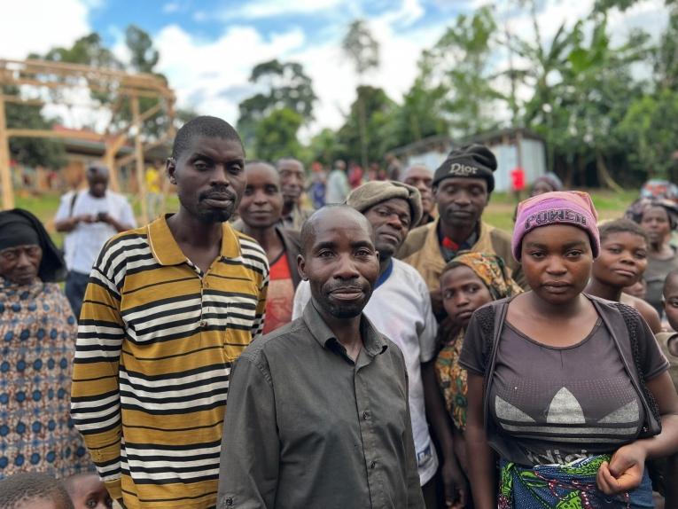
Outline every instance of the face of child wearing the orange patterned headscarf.
POLYGON ((440 278, 442 305, 455 325, 465 327, 473 311, 492 301, 492 295, 470 267, 459 265, 440 278))

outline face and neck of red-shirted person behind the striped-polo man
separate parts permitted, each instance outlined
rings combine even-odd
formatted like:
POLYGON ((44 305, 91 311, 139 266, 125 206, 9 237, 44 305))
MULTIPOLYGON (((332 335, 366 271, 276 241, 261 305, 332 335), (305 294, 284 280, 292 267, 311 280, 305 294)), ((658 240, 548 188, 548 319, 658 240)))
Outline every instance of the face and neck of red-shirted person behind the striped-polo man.
POLYGON ((283 240, 276 232, 276 224, 283 211, 283 194, 276 168, 266 163, 245 166, 247 184, 240 200, 238 214, 243 220, 243 233, 263 247, 269 262, 284 251, 283 240))

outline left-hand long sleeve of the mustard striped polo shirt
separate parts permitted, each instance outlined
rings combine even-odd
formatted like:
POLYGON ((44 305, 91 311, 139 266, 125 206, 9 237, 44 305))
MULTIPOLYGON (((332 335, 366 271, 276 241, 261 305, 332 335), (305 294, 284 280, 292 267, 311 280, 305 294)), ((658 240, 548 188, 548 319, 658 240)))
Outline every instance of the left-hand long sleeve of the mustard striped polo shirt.
POLYGON ((119 361, 125 330, 120 313, 123 266, 115 239, 90 273, 75 347, 71 416, 114 498, 121 498, 119 361), (116 260, 117 258, 117 260, 116 260), (118 263, 116 263, 118 262, 118 263), (115 276, 113 276, 115 274, 115 276), (118 281, 116 285, 115 281, 118 281))

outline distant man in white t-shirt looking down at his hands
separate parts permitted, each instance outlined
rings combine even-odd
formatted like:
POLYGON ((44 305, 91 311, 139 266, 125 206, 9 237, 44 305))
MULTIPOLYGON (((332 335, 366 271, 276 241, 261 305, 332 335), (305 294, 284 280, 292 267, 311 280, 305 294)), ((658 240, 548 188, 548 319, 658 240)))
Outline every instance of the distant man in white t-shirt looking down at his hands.
POLYGON ((105 241, 121 231, 136 227, 127 198, 108 190, 108 168, 87 168, 88 189, 68 192, 61 197, 54 227, 65 231, 66 297, 75 317, 80 317, 82 297, 90 280, 90 270, 105 241))

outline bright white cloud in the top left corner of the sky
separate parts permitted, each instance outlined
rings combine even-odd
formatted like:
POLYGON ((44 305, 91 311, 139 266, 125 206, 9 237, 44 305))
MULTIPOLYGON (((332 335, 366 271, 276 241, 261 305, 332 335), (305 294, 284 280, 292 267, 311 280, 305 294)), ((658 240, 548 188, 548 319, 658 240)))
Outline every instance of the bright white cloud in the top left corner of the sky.
POLYGON ((91 7, 91 0, 21 0, 4 4, 0 15, 1 56, 25 59, 30 52, 45 53, 54 46, 73 44, 91 32, 91 7))

